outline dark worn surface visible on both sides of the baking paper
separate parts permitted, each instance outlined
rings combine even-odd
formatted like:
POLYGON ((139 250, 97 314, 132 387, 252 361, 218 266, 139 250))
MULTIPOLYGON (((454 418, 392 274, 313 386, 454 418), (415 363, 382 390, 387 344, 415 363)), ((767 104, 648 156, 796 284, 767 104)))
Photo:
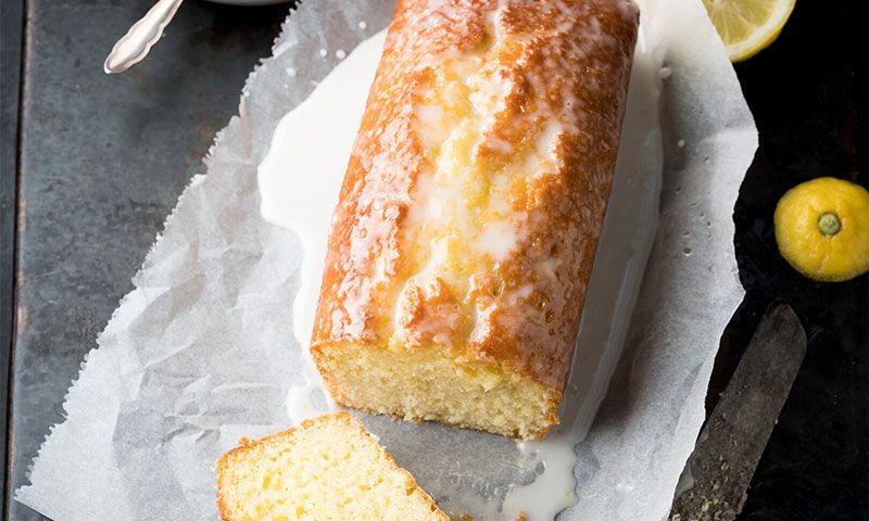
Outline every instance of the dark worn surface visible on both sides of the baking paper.
MULTIPOLYGON (((45 519, 12 501, 12 491, 63 419, 85 353, 131 289, 178 194, 202 171, 287 12, 188 0, 146 63, 103 75, 105 54, 150 3, 0 3, 7 519, 45 519)), ((779 257, 771 224, 779 196, 803 180, 867 183, 868 18, 862 0, 801 0, 780 39, 736 65, 760 149, 734 212, 747 295, 721 341, 709 405, 774 298, 794 307, 809 338, 742 520, 869 519, 867 276, 837 284, 802 278, 779 257)))

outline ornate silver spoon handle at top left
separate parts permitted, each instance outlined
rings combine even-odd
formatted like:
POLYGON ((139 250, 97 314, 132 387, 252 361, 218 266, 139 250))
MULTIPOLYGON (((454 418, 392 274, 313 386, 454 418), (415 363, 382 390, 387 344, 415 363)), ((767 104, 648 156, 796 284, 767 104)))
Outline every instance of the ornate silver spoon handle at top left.
POLYGON ((144 16, 122 36, 109 58, 105 59, 103 71, 105 74, 121 74, 141 62, 148 51, 156 43, 163 29, 175 16, 184 0, 159 0, 144 16))

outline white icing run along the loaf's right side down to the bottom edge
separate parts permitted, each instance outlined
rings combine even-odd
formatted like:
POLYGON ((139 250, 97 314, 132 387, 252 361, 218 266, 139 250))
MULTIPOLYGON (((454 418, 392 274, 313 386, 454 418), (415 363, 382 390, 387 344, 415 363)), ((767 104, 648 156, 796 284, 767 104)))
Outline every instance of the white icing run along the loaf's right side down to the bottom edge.
MULTIPOLYGON (((658 68, 656 58, 644 46, 641 27, 613 192, 585 293, 562 423, 541 442, 519 444, 521 453, 529 456, 524 468, 542 461, 545 471, 531 484, 508 493, 502 514, 505 521, 520 511, 529 521, 551 520, 576 500, 575 447, 589 432, 618 361, 657 228, 663 161, 658 68)), ((626 487, 630 484, 622 483, 621 488, 626 487)))

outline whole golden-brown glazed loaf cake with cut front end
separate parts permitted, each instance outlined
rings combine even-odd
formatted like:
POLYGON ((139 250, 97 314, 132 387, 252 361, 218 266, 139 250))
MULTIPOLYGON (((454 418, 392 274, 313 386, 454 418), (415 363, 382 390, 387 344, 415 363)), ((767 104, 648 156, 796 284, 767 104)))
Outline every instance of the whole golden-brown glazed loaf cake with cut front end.
POLYGON ((399 0, 311 345, 340 404, 558 422, 638 23, 628 0, 399 0))

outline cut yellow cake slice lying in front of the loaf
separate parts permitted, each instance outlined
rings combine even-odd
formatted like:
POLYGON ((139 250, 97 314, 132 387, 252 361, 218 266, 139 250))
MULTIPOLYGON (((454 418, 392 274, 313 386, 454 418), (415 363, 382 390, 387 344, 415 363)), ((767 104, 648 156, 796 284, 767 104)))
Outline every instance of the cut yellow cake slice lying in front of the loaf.
POLYGON ((223 521, 449 521, 347 412, 248 441, 217 461, 223 521))

